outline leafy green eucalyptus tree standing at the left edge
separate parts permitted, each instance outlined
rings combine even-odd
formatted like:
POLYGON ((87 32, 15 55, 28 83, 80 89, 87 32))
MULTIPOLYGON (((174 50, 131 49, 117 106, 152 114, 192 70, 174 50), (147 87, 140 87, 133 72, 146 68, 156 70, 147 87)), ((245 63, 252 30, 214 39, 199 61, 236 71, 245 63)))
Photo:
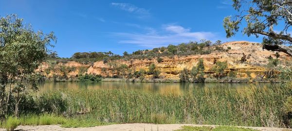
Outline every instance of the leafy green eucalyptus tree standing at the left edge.
POLYGON ((26 93, 37 90, 35 70, 44 62, 48 48, 54 47, 53 42, 53 32, 35 32, 15 14, 0 18, 0 116, 13 111, 18 115, 26 93))

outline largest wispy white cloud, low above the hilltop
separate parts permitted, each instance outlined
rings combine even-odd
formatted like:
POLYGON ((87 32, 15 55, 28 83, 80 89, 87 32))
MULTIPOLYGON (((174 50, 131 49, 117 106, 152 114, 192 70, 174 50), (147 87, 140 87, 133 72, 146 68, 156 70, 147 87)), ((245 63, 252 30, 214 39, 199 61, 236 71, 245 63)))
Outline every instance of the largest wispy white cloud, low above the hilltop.
POLYGON ((168 44, 178 44, 189 41, 199 41, 201 39, 215 40, 218 38, 212 32, 191 32, 188 28, 179 25, 163 25, 158 32, 149 28, 152 33, 111 33, 115 38, 120 39, 119 43, 137 44, 139 46, 154 48, 167 46, 168 44), (154 32, 154 33, 153 33, 154 32))

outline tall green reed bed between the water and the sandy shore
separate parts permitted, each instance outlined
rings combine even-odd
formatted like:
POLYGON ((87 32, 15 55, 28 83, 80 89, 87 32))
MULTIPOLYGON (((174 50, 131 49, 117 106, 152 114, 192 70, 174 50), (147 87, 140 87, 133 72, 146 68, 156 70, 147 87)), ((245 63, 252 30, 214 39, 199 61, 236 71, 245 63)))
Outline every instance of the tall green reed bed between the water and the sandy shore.
POLYGON ((97 125, 191 123, 287 127, 291 126, 291 118, 283 110, 284 102, 291 95, 291 89, 286 88, 255 88, 249 93, 195 89, 182 95, 123 90, 56 90, 25 98, 19 111, 21 116, 26 115, 20 117, 25 125, 30 125, 26 119, 51 114, 69 120, 62 123, 68 127, 82 125, 81 120, 90 120, 97 125))

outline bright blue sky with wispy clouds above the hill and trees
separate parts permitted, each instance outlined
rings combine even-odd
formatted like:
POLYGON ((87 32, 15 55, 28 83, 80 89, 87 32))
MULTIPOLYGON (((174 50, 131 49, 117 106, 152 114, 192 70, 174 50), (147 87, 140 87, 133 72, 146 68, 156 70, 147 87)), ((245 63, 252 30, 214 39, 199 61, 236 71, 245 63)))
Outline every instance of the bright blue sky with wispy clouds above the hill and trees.
POLYGON ((232 0, 0 0, 0 16, 12 13, 35 31, 55 32, 53 50, 112 51, 179 44, 200 39, 260 42, 238 32, 226 39, 222 20, 237 12, 232 0))

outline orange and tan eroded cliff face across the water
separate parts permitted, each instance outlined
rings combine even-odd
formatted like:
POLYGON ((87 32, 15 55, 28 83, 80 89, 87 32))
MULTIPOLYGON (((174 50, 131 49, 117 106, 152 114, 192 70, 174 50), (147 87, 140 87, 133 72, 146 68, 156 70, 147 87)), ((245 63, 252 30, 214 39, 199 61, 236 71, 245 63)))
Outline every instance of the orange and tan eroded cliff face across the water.
MULTIPOLYGON (((140 70, 145 69, 148 70, 148 66, 152 63, 156 65, 156 69, 161 71, 161 78, 165 79, 179 79, 179 72, 183 68, 187 68, 191 70, 193 66, 196 66, 198 60, 202 58, 204 60, 205 66, 205 73, 206 75, 212 74, 211 67, 214 65, 216 61, 227 61, 228 68, 226 69, 227 72, 230 70, 237 72, 237 77, 245 78, 247 77, 247 71, 251 73, 251 77, 255 78, 256 76, 263 75, 265 70, 265 65, 268 63, 268 57, 271 55, 275 58, 275 52, 263 50, 261 45, 258 43, 250 43, 246 41, 237 41, 237 42, 228 42, 225 44, 220 45, 223 49, 228 49, 228 51, 212 51, 210 54, 204 55, 189 55, 189 56, 174 56, 173 58, 163 57, 163 61, 158 63, 156 59, 152 60, 118 60, 118 61, 111 61, 109 63, 103 63, 102 61, 97 61, 93 65, 85 65, 80 64, 77 62, 68 62, 63 64, 63 66, 75 66, 76 68, 86 67, 88 74, 96 74, 102 76, 113 76, 115 75, 116 71, 113 71, 112 64, 125 64, 132 70, 140 70), (246 61, 240 61, 242 59, 243 53, 246 55, 246 61)), ((211 50, 214 47, 207 47, 211 50)), ((282 64, 284 61, 289 61, 291 58, 282 52, 280 54, 280 61, 282 64)), ((44 70, 46 64, 41 66, 41 70, 44 70)), ((74 73, 68 73, 69 75, 76 76, 78 74, 78 69, 74 73)))

